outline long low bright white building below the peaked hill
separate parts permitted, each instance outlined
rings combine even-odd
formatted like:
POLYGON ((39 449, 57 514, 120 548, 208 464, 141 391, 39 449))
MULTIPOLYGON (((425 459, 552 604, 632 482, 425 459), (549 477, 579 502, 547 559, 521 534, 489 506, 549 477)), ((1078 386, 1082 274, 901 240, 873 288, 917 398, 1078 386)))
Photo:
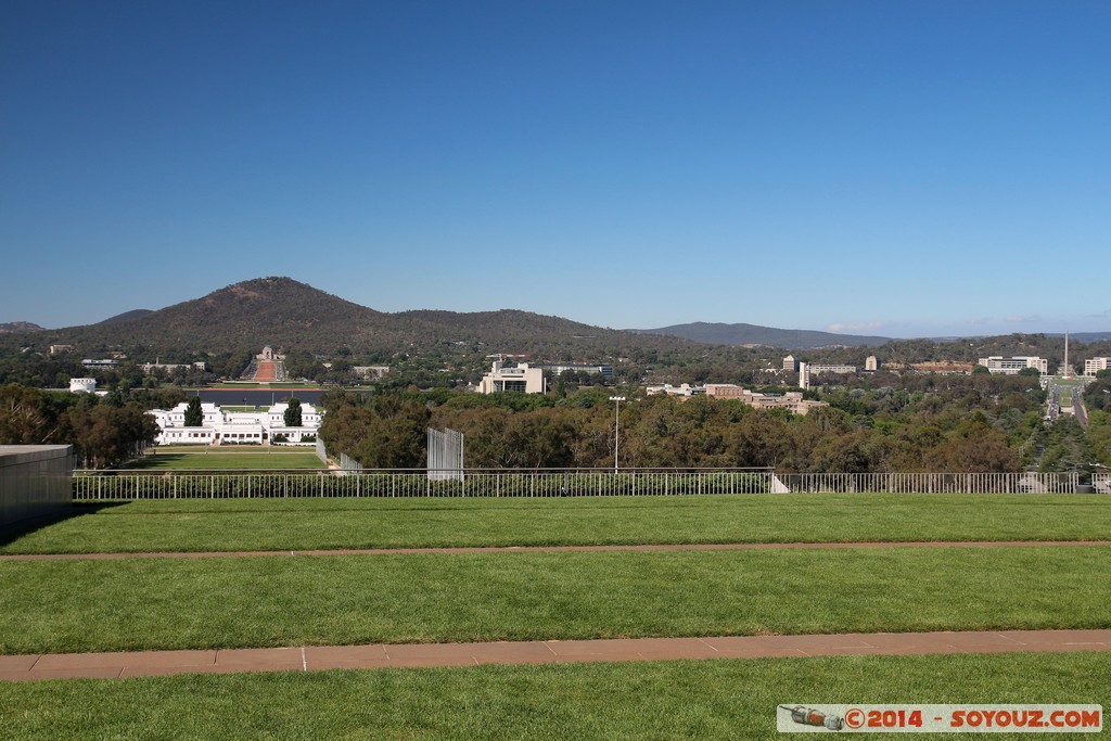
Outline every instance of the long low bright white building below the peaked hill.
POLYGON ((186 427, 188 402, 170 410, 153 409, 148 414, 158 423, 159 433, 154 439, 160 445, 224 445, 224 444, 269 444, 276 437, 283 442, 309 444, 317 439, 322 410, 301 402, 301 427, 286 427, 287 402, 277 403, 266 411, 229 412, 213 403, 201 403, 200 427, 186 427))

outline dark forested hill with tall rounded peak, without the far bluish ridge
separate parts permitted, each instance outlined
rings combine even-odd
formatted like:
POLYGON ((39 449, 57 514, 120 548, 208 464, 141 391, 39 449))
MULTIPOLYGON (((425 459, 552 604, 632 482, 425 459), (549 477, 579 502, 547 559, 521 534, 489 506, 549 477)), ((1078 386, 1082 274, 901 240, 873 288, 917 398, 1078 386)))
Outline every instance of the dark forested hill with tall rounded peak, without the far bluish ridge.
POLYGON ((638 336, 524 311, 383 313, 290 278, 259 278, 153 312, 134 311, 98 324, 13 334, 36 347, 64 343, 80 353, 107 349, 216 354, 263 346, 332 354, 420 352, 469 346, 488 352, 623 354, 680 350, 689 342, 638 336))

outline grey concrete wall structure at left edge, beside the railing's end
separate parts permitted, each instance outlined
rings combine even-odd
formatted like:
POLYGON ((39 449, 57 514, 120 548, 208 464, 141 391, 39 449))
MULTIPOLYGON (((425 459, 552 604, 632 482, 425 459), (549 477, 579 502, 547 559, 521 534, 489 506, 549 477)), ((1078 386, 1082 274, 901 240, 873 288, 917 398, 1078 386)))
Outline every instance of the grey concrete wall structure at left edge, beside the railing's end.
POLYGON ((0 445, 0 528, 73 503, 72 445, 0 445))

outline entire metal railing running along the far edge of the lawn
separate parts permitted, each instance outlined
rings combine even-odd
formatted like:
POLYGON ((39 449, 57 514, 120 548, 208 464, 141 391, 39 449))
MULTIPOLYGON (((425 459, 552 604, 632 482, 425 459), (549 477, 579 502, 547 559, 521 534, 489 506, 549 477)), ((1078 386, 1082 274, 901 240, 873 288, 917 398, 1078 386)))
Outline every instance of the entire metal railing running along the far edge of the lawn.
MULTIPOLYGON (((1077 473, 773 473, 770 469, 76 471, 74 499, 625 497, 748 493, 1073 493, 1077 473), (446 471, 444 473, 449 473, 446 471)), ((1097 474, 1097 478, 1101 474, 1097 474)), ((1111 493, 1111 478, 1093 478, 1111 493)))

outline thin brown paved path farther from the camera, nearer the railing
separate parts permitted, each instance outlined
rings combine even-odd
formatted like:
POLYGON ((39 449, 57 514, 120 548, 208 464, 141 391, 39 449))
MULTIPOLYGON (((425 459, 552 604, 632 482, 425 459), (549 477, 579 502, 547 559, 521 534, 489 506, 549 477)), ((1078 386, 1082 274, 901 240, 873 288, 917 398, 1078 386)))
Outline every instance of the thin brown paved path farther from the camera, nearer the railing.
POLYGON ((0 561, 67 561, 73 559, 210 559, 233 555, 398 555, 412 553, 581 553, 593 551, 749 551, 825 550, 843 548, 1030 548, 1039 545, 1111 545, 1111 540, 973 540, 860 543, 661 543, 647 545, 502 545, 473 548, 366 548, 308 551, 160 551, 144 553, 19 553, 0 561))

